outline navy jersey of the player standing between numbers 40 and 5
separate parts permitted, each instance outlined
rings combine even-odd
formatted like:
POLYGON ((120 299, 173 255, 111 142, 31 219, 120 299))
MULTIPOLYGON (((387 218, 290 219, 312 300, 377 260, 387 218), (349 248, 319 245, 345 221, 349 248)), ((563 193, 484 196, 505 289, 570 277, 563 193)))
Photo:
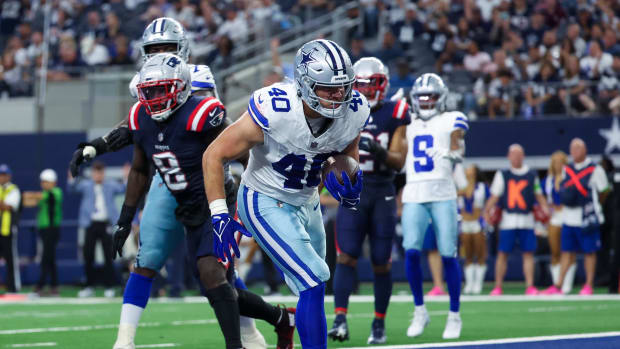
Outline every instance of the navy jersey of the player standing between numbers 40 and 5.
MULTIPOLYGON (((383 100, 377 108, 370 111, 370 118, 361 132, 362 136, 371 136, 383 148, 389 149, 394 132, 399 126, 411 123, 409 105, 405 99, 399 101, 383 100)), ((360 149, 360 169, 364 171, 364 180, 372 182, 391 182, 395 171, 385 164, 375 161, 374 157, 360 149)))

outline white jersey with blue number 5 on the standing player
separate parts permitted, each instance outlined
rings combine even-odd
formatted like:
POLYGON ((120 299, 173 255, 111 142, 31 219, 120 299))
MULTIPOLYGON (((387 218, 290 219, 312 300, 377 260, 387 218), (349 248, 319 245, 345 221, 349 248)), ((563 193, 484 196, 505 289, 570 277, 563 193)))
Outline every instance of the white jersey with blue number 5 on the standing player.
POLYGON ((467 130, 467 117, 461 112, 444 112, 429 120, 414 118, 407 126, 407 184, 403 202, 430 202, 456 199, 452 161, 433 159, 430 149, 450 150, 450 135, 457 129, 467 130))

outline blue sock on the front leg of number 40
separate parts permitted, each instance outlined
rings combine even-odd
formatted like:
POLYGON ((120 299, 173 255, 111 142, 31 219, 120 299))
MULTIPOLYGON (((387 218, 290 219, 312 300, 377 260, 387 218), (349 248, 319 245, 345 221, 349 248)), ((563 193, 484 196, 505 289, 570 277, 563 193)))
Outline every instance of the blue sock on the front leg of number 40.
POLYGON ((327 321, 325 320, 325 284, 299 293, 297 302, 297 333, 304 349, 327 348, 327 321))

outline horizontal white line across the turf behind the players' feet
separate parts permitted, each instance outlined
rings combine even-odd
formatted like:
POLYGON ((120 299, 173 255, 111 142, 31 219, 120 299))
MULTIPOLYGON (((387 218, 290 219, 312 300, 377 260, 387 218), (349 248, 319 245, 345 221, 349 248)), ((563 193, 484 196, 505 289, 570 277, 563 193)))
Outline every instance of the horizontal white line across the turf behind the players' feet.
MULTIPOLYGON (((296 303, 296 296, 265 296, 265 301, 269 303, 296 303)), ((450 299, 448 296, 424 297, 425 302, 445 303, 450 299)), ((44 298, 44 299, 28 299, 24 301, 0 301, 0 304, 19 304, 19 305, 86 305, 86 304, 119 304, 120 298, 44 298)), ((350 303, 368 303, 373 302, 374 296, 351 296, 350 303)), ((591 296, 580 295, 562 295, 562 296, 526 296, 526 295, 505 295, 505 296, 461 296, 461 302, 536 302, 536 301, 620 301, 620 295, 613 294, 597 294, 591 296)), ((325 303, 333 303, 333 296, 325 296, 325 303)), ((391 303, 413 303, 411 295, 393 295, 390 298, 391 303)), ((158 298, 149 300, 149 303, 162 304, 178 304, 178 303, 204 303, 208 304, 204 297, 185 297, 178 298, 158 298)))

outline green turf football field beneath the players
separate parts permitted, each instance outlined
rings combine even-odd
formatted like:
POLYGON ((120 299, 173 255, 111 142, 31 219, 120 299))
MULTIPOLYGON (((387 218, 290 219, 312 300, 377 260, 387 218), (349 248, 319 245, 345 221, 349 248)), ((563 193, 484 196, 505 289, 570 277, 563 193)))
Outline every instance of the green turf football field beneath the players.
MULTIPOLYGON (((397 289, 403 287, 399 285, 397 289)), ((361 290, 366 290, 366 286, 361 290)), ((461 308, 463 332, 460 340, 620 330, 620 298, 530 300, 512 297, 513 300, 465 300, 461 308)), ((373 314, 372 300, 366 298, 356 299, 350 304, 351 340, 330 342, 329 347, 366 345, 373 314)), ((411 340, 405 336, 412 315, 410 296, 395 295, 394 298, 386 319, 387 344, 441 341, 448 310, 446 301, 427 302, 431 323, 421 338, 411 340)), ((76 303, 75 298, 69 297, 53 301, 41 298, 18 304, 0 303, 0 348, 39 343, 40 347, 63 349, 110 349, 116 338, 121 299, 96 298, 92 304, 76 303)), ((288 302, 287 305, 294 303, 288 302)), ((326 303, 326 313, 328 326, 331 326, 333 303, 326 303)), ((142 317, 142 325, 136 337, 138 347, 166 347, 165 344, 170 344, 169 347, 222 348, 224 343, 213 312, 200 298, 177 302, 154 300, 142 317)), ((267 342, 275 344, 270 326, 258 322, 258 327, 267 342)))

